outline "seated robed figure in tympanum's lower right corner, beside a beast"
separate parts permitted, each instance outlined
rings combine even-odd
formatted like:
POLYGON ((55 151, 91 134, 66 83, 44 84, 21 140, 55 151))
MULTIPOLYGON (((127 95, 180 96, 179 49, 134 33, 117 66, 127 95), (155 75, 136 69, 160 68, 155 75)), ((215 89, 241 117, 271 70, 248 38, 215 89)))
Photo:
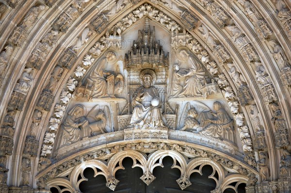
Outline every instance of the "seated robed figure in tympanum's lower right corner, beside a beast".
POLYGON ((208 123, 208 126, 201 133, 223 139, 225 130, 232 130, 233 120, 227 115, 226 110, 220 102, 214 102, 213 109, 216 113, 212 112, 213 119, 204 120, 204 122, 208 123))

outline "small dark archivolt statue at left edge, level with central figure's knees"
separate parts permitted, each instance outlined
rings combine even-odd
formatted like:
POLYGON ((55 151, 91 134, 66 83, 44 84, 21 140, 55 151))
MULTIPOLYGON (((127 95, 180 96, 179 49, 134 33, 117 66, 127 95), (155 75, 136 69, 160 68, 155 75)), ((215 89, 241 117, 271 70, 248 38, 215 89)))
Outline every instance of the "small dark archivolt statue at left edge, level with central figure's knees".
POLYGON ((1 132, 0 134, 1 135, 6 135, 6 136, 9 136, 9 137, 13 137, 14 135, 14 116, 16 114, 16 111, 8 111, 5 118, 4 118, 4 121, 1 125, 1 132))

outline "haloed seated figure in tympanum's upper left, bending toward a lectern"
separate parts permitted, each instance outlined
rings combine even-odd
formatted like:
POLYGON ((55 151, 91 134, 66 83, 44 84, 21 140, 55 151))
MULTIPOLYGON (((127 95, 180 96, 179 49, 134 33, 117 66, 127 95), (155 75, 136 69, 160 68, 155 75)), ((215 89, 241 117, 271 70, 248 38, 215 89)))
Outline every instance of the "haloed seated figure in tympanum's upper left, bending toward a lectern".
POLYGON ((116 60, 116 55, 114 52, 109 51, 105 55, 94 71, 91 72, 90 77, 88 78, 89 86, 93 86, 94 84, 94 91, 93 97, 95 98, 104 98, 109 97, 107 93, 107 78, 104 77, 105 75, 108 77, 112 75, 110 72, 106 72, 106 65, 108 62, 113 62, 116 60))

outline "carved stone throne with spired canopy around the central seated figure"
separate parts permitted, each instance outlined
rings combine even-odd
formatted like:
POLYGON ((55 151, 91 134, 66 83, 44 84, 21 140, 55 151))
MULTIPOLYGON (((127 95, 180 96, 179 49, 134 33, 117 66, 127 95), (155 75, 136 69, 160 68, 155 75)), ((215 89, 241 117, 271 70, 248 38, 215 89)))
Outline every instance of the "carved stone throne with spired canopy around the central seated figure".
POLYGON ((165 119, 165 126, 169 129, 176 127, 176 109, 167 103, 167 77, 168 77, 168 56, 165 56, 162 45, 155 40, 155 28, 150 30, 148 19, 144 30, 139 30, 138 39, 133 42, 131 50, 125 55, 125 69, 128 72, 128 103, 119 112, 118 127, 123 130, 129 125, 133 106, 132 99, 135 97, 137 89, 142 84, 140 73, 149 69, 155 72, 156 80, 153 86, 158 89, 162 102, 162 114, 165 119))

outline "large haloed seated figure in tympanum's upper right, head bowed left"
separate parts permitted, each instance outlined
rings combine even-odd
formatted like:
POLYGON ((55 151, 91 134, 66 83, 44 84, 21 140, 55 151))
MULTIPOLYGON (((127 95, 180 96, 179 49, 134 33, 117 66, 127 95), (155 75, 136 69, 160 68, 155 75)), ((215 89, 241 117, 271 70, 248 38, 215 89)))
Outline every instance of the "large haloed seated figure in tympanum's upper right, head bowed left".
POLYGON ((194 58, 193 55, 189 54, 184 47, 180 47, 176 51, 176 56, 181 62, 186 62, 190 69, 187 73, 182 74, 182 77, 186 77, 183 91, 179 96, 195 97, 202 96, 201 82, 205 79, 205 71, 199 62, 194 58))

